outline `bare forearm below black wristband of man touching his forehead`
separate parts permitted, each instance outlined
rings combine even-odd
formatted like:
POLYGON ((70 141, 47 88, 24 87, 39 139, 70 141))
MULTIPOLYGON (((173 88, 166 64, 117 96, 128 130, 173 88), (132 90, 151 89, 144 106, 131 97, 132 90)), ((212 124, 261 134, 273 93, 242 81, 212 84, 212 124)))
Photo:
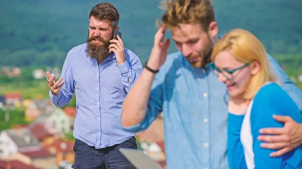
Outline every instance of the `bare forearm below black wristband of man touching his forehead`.
POLYGON ((121 124, 130 127, 140 123, 146 115, 150 89, 155 74, 143 69, 140 77, 127 94, 122 108, 121 124))

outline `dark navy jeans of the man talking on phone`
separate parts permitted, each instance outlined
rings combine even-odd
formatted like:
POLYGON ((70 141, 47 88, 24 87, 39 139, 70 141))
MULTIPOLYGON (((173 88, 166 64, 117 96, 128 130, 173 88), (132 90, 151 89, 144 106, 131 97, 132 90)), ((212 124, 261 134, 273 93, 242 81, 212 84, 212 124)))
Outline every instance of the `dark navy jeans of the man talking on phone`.
POLYGON ((86 143, 75 139, 73 146, 75 157, 74 164, 72 164, 71 167, 74 169, 135 169, 135 167, 118 150, 121 147, 136 149, 137 145, 135 137, 131 137, 123 143, 101 149, 96 149, 95 147, 89 146, 86 143))

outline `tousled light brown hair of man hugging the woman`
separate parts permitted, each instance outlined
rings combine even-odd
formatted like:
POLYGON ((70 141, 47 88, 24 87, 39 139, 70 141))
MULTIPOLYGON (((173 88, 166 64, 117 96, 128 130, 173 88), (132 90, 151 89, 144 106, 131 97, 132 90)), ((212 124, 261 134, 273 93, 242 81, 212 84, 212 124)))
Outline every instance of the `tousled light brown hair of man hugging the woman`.
POLYGON ((215 21, 214 9, 210 0, 166 0, 161 2, 161 9, 166 10, 162 23, 167 28, 179 27, 181 24, 199 23, 204 31, 215 21))

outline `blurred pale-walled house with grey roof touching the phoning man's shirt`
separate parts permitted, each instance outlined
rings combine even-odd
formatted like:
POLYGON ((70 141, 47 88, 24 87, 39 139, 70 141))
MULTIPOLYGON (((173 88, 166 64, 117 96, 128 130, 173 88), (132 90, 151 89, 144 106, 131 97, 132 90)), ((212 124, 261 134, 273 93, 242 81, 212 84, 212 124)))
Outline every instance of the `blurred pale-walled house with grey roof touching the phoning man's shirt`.
POLYGON ((54 105, 47 106, 33 123, 44 124, 47 129, 54 127, 59 134, 70 132, 72 127, 70 118, 54 105))

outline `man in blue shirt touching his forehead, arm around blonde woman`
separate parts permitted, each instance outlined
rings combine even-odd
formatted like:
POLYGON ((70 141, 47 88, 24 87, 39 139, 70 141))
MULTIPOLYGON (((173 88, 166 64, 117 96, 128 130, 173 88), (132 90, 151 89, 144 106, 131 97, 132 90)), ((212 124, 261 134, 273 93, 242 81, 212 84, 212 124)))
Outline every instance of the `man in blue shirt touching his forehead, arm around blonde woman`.
MULTIPOLYGON (((146 129, 163 111, 168 168, 229 168, 226 157, 228 100, 225 85, 209 68, 219 40, 209 0, 167 0, 161 28, 140 77, 123 103, 121 124, 127 131, 146 129), (178 52, 168 54, 170 29, 178 52)), ((302 110, 302 92, 268 55, 283 88, 302 110)), ((273 118, 273 117, 272 117, 273 118)), ((302 125, 276 117, 283 128, 264 129, 262 146, 278 156, 302 143, 302 125)))

